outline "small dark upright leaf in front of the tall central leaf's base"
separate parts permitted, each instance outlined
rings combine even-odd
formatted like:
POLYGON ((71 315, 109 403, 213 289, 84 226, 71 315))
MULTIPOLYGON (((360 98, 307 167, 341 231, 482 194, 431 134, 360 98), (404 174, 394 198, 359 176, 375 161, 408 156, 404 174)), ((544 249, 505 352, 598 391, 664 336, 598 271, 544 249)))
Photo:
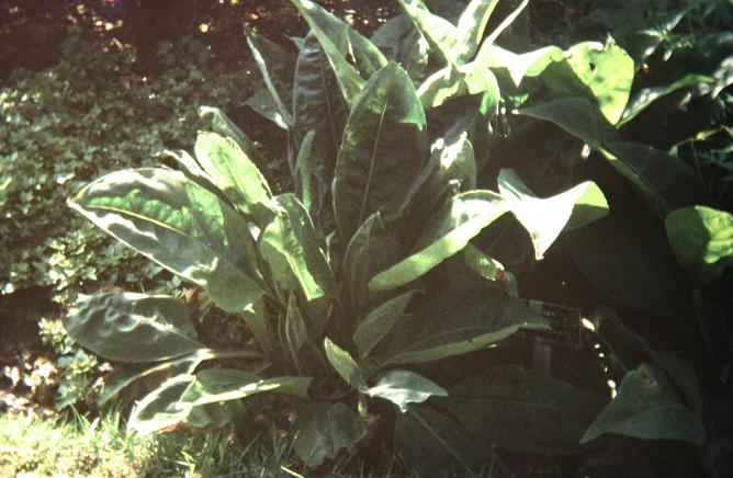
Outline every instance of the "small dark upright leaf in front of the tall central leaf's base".
POLYGON ((353 310, 371 301, 369 280, 397 262, 402 246, 390 226, 374 213, 357 229, 347 246, 342 263, 342 280, 353 310))

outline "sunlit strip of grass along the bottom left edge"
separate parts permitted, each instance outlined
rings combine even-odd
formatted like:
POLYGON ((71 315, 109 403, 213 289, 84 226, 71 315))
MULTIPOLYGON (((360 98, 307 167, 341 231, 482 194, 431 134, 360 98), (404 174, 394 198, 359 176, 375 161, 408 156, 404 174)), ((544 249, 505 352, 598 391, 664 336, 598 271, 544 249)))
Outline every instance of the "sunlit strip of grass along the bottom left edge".
MULTIPOLYGON (((140 436, 121 414, 94 420, 80 414, 44 420, 36 416, 0 417, 0 476, 75 477, 283 477, 313 476, 297 464, 292 441, 274 429, 238 439, 224 432, 174 432, 140 436)), ((319 476, 371 475, 345 458, 319 476)))

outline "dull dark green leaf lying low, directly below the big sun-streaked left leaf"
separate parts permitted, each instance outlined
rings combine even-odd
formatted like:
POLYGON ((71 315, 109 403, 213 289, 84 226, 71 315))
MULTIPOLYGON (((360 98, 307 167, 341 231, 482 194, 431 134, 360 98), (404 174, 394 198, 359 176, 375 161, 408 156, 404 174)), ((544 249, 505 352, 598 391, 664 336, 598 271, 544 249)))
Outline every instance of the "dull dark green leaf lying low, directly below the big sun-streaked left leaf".
POLYGON ((174 297, 99 294, 71 309, 65 325, 75 341, 115 362, 157 362, 204 349, 174 297))

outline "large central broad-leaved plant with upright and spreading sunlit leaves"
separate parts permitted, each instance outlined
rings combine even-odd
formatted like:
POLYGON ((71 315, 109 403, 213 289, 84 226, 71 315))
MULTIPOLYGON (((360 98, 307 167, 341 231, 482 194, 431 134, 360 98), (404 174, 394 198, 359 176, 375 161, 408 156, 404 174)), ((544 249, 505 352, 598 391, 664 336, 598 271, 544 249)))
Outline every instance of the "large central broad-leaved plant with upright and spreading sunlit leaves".
POLYGON ((564 229, 607 214, 606 198, 590 181, 539 197, 516 171, 503 169, 495 178, 498 192, 475 187, 473 140, 485 143, 499 90, 492 71, 472 61, 481 57, 475 53, 496 2, 466 7, 459 43, 454 26, 421 2, 405 1, 408 16, 377 35, 404 29, 397 37, 406 39, 385 52, 315 3, 293 3, 312 29, 295 42, 294 68, 278 66, 286 57, 282 47, 248 33, 270 96, 260 93, 249 103, 290 133, 296 193, 274 195, 256 166, 260 151, 221 111, 206 109, 216 133, 199 135, 195 157, 174 155, 180 170, 109 173, 69 201, 108 234, 239 315, 256 344, 206 348, 178 299, 133 293, 80 303, 66 322, 70 335, 108 360, 150 364, 117 389, 173 371, 135 406, 131 426, 143 432, 181 422, 236 422, 240 399, 281 394, 297 406, 295 451, 315 466, 363 440, 382 399, 401 417, 396 435, 427 431, 458 463, 498 470, 488 448, 469 458, 438 430, 463 423, 452 434, 459 442, 478 436, 484 443, 485 431, 470 426, 471 411, 460 411, 452 390, 461 397, 463 389, 501 389, 520 379, 527 395, 509 398, 518 433, 537 434, 527 424, 538 407, 553 410, 554 418, 571 413, 574 425, 564 433, 575 446, 597 401, 573 403, 591 392, 521 367, 472 371, 480 375, 465 379, 474 386, 465 382, 450 390, 417 372, 520 329, 548 328, 517 297, 512 273, 472 240, 511 213, 541 259, 564 229), (426 70, 411 69, 415 55, 426 59, 426 70), (431 68, 438 72, 424 77, 431 68), (462 113, 449 107, 465 99, 471 107, 462 113), (441 283, 446 277, 448 284, 441 283), (237 365, 201 366, 217 358, 236 358, 237 365), (545 388, 552 394, 534 397, 545 388), (419 406, 447 395, 437 402, 458 421, 419 406))

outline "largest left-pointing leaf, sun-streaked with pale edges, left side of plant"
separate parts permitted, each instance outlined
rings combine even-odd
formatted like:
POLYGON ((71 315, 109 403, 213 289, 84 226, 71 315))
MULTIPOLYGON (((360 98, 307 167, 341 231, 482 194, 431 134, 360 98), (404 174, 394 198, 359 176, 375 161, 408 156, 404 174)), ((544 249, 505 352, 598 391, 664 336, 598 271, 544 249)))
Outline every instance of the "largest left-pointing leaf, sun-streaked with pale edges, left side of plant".
POLYGON ((110 173, 69 205, 131 248, 240 312, 263 294, 244 218, 183 173, 142 168, 110 173))

